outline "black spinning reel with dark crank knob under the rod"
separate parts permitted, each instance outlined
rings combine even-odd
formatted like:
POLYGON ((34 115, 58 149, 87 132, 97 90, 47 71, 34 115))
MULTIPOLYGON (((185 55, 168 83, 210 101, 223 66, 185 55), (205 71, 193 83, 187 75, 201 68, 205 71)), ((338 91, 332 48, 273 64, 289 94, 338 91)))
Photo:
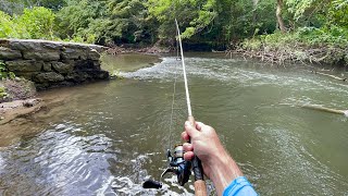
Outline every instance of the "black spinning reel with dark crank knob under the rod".
POLYGON ((144 188, 161 188, 162 177, 167 173, 173 173, 177 176, 177 182, 181 186, 184 186, 191 174, 191 162, 185 161, 184 159, 184 147, 183 145, 175 145, 174 154, 172 156, 171 150, 166 151, 166 158, 169 161, 169 167, 161 174, 160 182, 153 180, 147 180, 144 184, 144 188))

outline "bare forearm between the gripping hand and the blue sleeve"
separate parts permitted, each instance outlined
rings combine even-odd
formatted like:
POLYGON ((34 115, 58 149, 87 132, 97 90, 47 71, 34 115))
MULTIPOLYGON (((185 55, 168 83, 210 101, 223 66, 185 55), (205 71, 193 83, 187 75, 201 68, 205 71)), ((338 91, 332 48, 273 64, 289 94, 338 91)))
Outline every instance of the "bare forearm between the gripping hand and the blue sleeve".
POLYGON ((232 157, 223 149, 223 152, 216 155, 212 168, 211 180, 214 183, 217 195, 222 195, 224 189, 238 176, 243 176, 243 172, 232 157))

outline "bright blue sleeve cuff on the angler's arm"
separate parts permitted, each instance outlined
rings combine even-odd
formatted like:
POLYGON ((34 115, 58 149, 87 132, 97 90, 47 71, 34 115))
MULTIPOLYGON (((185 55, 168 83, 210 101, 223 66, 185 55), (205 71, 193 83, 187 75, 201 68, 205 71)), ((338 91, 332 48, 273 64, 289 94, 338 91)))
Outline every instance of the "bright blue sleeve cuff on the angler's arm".
POLYGON ((224 191, 223 196, 254 196, 258 195, 245 176, 235 179, 224 191))

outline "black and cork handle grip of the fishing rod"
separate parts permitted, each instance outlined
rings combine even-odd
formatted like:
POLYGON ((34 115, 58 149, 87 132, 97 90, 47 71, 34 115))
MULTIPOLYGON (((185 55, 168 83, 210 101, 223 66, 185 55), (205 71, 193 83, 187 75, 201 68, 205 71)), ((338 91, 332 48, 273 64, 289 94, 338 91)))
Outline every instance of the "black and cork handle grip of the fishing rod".
MULTIPOLYGON (((192 115, 189 115, 187 118, 188 122, 191 123, 192 126, 196 127, 196 121, 192 115)), ((195 174, 195 195, 197 196, 207 196, 207 185, 204 182, 204 172, 203 172, 203 167, 202 162, 200 159, 195 155, 192 159, 192 170, 195 174)))

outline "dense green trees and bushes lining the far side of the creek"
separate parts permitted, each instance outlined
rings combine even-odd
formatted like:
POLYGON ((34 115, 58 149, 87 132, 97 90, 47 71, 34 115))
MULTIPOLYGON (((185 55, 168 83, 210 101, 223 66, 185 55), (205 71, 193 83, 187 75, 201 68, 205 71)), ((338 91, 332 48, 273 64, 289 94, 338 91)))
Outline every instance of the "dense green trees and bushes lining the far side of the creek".
POLYGON ((172 45, 176 17, 191 44, 263 52, 348 46, 347 0, 0 0, 0 37, 172 45))

